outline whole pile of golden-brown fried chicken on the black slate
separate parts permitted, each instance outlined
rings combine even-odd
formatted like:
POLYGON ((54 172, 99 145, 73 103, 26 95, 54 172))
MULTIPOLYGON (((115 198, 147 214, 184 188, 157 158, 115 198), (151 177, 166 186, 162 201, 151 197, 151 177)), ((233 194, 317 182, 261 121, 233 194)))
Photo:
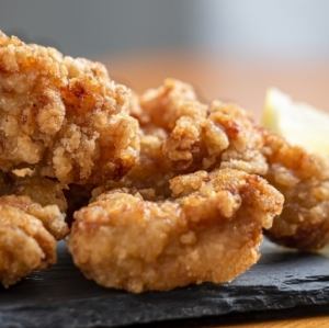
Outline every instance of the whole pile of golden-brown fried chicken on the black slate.
POLYGON ((71 216, 77 267, 134 293, 231 281, 263 230, 329 241, 328 161, 186 83, 138 95, 101 64, 1 33, 0 149, 5 286, 55 262, 71 216))

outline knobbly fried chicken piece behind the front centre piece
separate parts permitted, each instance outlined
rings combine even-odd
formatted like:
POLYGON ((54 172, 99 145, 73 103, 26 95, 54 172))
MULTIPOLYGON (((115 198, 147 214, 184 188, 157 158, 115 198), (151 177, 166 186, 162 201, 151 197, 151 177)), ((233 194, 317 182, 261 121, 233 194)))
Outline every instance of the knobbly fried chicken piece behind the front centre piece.
POLYGON ((189 84, 164 80, 140 97, 139 106, 135 102, 132 114, 146 143, 161 148, 157 167, 164 171, 189 173, 218 166, 258 174, 268 170, 262 133, 247 112, 219 101, 205 105, 189 84))

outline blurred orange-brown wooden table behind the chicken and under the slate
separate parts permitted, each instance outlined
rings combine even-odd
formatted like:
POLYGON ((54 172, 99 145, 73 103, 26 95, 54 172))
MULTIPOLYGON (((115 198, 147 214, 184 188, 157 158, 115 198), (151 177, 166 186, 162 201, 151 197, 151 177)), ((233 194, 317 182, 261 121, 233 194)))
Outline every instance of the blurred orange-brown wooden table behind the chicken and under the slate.
MULTIPOLYGON (((102 60, 102 59, 101 59, 102 60)), ((104 61, 104 60, 102 60, 104 61)), ((265 90, 277 87, 295 99, 329 110, 329 61, 227 60, 215 54, 152 54, 106 58, 110 75, 140 92, 167 77, 192 83, 206 100, 232 101, 260 115, 265 90)), ((329 128, 329 127, 328 127, 329 128)), ((303 318, 203 325, 220 328, 327 328, 328 315, 303 318)), ((284 315, 288 317, 288 315, 284 315)), ((243 320, 242 320, 243 321, 243 320)), ((193 325, 194 327, 194 325, 193 325)))

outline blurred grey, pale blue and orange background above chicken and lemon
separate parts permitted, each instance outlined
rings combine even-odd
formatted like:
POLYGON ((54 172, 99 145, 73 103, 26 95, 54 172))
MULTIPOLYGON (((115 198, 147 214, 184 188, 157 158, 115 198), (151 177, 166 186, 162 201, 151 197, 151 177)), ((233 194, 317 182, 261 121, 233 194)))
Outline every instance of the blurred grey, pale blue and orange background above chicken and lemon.
POLYGON ((265 89, 329 109, 327 0, 0 0, 0 29, 104 61, 141 91, 166 77, 257 113, 265 89))

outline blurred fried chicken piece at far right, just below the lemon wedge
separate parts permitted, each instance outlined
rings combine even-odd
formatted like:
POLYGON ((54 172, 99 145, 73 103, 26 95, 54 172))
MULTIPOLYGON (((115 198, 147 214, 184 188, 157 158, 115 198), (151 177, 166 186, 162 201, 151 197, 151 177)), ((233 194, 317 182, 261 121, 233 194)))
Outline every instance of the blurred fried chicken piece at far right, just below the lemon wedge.
POLYGON ((285 197, 266 235, 287 247, 321 249, 329 242, 329 161, 268 132, 264 140, 270 163, 265 178, 285 197))

